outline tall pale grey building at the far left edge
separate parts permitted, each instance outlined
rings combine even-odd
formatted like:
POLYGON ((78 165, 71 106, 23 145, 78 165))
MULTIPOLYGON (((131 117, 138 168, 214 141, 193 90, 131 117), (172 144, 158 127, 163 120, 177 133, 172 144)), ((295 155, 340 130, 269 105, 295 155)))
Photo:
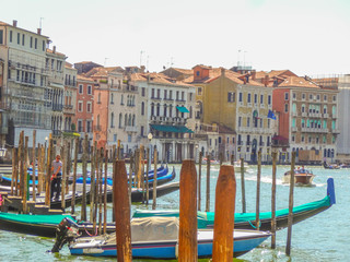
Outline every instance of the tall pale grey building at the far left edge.
MULTIPOLYGON (((2 64, 1 105, 9 112, 7 143, 18 145, 22 130, 36 141, 45 143, 50 131, 50 111, 47 110, 45 90, 48 72, 45 67, 49 39, 38 28, 36 33, 18 27, 18 22, 0 22, 0 60, 2 64)), ((1 129, 1 133, 5 129, 1 129)), ((3 138, 3 136, 2 136, 3 138)), ((3 145, 3 141, 1 141, 3 145)), ((30 140, 30 144, 31 144, 30 140)))

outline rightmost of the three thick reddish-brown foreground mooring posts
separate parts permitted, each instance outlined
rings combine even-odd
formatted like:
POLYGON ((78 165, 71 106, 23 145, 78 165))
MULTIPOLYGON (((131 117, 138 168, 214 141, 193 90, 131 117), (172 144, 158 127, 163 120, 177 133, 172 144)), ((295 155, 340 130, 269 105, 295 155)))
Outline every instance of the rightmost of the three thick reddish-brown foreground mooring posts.
POLYGON ((234 167, 232 165, 223 165, 220 167, 215 189, 213 262, 232 261, 235 198, 236 180, 234 167))

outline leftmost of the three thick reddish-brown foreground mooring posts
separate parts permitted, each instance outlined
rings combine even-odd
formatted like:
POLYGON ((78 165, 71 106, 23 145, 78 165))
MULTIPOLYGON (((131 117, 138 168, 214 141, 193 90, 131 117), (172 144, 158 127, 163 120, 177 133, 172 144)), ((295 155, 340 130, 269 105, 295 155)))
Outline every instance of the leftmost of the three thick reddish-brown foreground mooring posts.
POLYGON ((130 205, 128 198, 128 178, 125 160, 117 160, 113 174, 115 192, 116 240, 118 262, 132 262, 130 205))

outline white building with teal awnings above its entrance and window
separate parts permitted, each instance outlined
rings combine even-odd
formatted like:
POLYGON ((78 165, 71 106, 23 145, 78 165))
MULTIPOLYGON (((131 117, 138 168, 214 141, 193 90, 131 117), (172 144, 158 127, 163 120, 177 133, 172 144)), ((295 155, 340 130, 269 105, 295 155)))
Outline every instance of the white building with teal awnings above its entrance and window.
POLYGON ((160 162, 179 163, 195 158, 199 147, 192 138, 196 87, 160 73, 136 73, 131 81, 139 91, 137 122, 140 143, 156 147, 160 162), (148 140, 149 133, 152 133, 151 141, 148 140))

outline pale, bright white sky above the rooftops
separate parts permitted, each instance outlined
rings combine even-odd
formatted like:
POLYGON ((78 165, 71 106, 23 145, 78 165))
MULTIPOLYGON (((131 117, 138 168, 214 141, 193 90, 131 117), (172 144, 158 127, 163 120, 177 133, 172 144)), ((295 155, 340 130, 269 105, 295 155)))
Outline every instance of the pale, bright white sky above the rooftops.
POLYGON ((350 73, 349 0, 11 0, 0 21, 43 34, 68 62, 150 72, 252 66, 350 73))

